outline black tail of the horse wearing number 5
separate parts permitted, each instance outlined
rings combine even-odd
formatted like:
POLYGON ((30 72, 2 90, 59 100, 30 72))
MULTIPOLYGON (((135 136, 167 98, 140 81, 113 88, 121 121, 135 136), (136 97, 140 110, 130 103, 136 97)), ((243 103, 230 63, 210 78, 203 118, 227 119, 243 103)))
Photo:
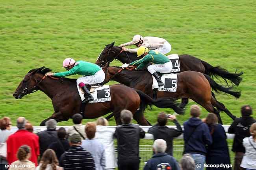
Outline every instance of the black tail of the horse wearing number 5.
POLYGON ((228 93, 236 98, 239 98, 241 96, 241 91, 235 91, 233 90, 233 86, 222 86, 220 84, 217 84, 217 82, 215 82, 213 79, 211 79, 211 77, 207 74, 204 74, 204 77, 208 80, 208 82, 210 83, 211 88, 216 92, 216 93, 220 93, 219 91, 223 91, 224 93, 228 93))

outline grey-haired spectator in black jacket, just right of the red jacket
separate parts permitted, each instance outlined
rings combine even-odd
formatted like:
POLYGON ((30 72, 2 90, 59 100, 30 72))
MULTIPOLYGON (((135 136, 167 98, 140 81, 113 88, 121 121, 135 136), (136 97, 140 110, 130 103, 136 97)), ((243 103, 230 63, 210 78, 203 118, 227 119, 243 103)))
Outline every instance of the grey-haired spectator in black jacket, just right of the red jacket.
POLYGON ((47 130, 38 132, 39 136, 39 147, 40 147, 40 155, 43 156, 43 153, 48 148, 48 146, 56 141, 58 141, 56 126, 57 122, 54 119, 50 119, 45 122, 47 130))

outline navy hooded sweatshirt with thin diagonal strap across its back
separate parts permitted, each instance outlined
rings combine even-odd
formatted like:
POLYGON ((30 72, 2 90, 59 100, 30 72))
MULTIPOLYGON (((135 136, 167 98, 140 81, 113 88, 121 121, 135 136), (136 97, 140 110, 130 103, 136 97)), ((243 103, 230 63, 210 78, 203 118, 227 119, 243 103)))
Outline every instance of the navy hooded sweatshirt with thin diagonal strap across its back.
POLYGON ((212 143, 207 124, 198 118, 191 117, 188 121, 184 122, 183 125, 185 141, 184 153, 206 155, 206 144, 212 143))

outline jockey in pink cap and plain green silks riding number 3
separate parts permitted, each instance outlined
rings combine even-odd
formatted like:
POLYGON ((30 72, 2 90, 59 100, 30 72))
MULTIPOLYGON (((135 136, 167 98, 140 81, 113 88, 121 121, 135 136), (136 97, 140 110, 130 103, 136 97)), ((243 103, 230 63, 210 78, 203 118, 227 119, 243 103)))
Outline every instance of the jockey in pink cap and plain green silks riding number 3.
POLYGON ((61 73, 46 73, 46 76, 65 77, 68 75, 82 75, 76 80, 77 85, 85 92, 83 103, 93 101, 93 96, 85 84, 98 84, 105 80, 105 73, 100 66, 86 61, 75 61, 73 58, 66 58, 63 61, 63 68, 67 71, 61 73))

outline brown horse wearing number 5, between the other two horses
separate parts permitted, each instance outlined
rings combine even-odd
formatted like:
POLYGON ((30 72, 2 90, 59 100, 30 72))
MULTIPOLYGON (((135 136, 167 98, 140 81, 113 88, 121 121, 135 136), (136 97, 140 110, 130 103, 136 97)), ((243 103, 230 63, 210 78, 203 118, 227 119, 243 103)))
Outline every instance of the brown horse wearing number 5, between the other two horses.
MULTIPOLYGON (((115 80, 125 84, 126 86, 141 90, 151 97, 153 96, 153 80, 152 75, 148 71, 121 69, 113 66, 108 67, 108 65, 106 65, 103 70, 106 72, 106 82, 109 80, 115 80)), ((228 111, 224 104, 217 101, 217 99, 211 95, 211 88, 213 88, 217 93, 219 93, 219 91, 223 91, 236 98, 240 97, 240 91, 234 91, 232 90, 232 87, 219 85, 211 79, 210 76, 195 71, 184 71, 182 73, 178 73, 177 77, 177 91, 158 91, 157 98, 171 97, 172 99, 192 99, 204 107, 208 112, 215 113, 220 123, 222 123, 219 114, 220 111, 224 111, 232 119, 236 118, 228 111), (217 110, 214 107, 216 107, 217 110)))

